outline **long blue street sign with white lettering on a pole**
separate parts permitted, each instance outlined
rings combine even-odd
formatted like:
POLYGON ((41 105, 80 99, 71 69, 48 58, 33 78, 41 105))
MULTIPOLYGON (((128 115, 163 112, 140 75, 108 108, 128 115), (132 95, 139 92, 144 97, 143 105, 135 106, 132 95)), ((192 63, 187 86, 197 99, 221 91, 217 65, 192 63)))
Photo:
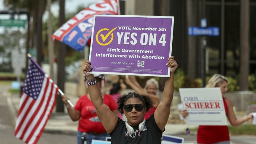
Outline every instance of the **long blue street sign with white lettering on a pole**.
POLYGON ((219 36, 219 27, 189 27, 189 35, 219 36))

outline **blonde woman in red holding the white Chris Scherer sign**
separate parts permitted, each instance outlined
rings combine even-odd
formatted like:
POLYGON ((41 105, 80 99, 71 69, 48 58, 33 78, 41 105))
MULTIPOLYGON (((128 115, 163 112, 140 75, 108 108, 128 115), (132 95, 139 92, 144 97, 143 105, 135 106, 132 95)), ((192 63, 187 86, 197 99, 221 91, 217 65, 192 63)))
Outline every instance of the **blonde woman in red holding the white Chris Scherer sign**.
MULTIPOLYGON (((223 98, 223 103, 225 107, 225 112, 227 118, 232 126, 238 126, 243 124, 245 121, 249 119, 253 119, 253 113, 241 118, 237 118, 235 112, 233 111, 232 101, 224 97, 227 92, 228 80, 227 77, 223 75, 215 74, 208 81, 208 84, 205 86, 206 88, 216 88, 219 87, 221 89, 221 94, 223 98)), ((186 117, 189 115, 186 109, 181 111, 181 115, 186 117)), ((229 130, 227 125, 199 125, 197 130, 197 143, 198 144, 230 144, 229 139, 229 130)))

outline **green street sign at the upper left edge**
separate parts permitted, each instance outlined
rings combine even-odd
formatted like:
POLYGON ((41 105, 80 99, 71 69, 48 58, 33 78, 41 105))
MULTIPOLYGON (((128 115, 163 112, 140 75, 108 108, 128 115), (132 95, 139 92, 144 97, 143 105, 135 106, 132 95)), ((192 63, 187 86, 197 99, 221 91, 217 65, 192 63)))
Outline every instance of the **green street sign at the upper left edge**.
POLYGON ((0 19, 2 27, 25 27, 26 20, 20 19, 0 19))

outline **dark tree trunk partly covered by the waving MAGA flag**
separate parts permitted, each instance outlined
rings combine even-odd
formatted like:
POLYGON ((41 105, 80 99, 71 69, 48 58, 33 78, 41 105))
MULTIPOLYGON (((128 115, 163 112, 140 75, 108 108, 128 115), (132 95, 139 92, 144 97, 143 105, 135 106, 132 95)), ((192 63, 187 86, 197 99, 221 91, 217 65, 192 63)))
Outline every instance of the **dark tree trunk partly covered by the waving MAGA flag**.
MULTIPOLYGON (((65 0, 59 0, 59 27, 65 23, 65 0)), ((61 91, 64 92, 65 84, 65 54, 66 45, 61 42, 58 43, 58 74, 57 83, 61 91)), ((56 112, 64 112, 64 104, 61 100, 61 96, 57 96, 56 112)))

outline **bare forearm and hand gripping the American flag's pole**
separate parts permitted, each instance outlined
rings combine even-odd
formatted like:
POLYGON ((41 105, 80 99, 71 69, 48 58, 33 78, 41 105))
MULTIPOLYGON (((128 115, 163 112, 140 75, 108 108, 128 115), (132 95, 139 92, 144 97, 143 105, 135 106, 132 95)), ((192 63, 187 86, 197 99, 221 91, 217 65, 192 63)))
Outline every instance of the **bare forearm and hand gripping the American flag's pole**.
POLYGON ((61 99, 67 107, 67 111, 71 120, 73 120, 74 122, 79 120, 81 117, 81 112, 70 107, 69 103, 67 102, 67 100, 69 99, 67 96, 61 96, 61 99))

